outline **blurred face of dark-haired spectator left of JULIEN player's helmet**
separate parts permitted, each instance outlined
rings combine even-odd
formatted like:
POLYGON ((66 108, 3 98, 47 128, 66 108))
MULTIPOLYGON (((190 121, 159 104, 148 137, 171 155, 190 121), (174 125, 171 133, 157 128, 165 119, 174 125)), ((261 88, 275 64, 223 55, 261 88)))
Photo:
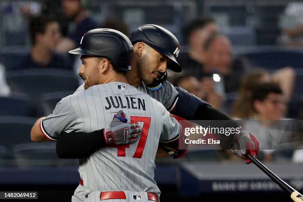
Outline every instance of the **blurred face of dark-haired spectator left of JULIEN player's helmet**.
POLYGON ((50 63, 52 53, 42 45, 37 44, 32 48, 31 56, 35 63, 46 66, 50 63))

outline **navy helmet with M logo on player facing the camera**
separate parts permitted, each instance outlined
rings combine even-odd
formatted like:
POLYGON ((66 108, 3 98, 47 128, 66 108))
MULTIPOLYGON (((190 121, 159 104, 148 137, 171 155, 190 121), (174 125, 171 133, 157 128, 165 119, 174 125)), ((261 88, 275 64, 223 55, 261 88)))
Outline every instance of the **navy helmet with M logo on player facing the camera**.
POLYGON ((174 72, 182 71, 182 67, 176 59, 179 55, 180 43, 178 39, 165 28, 152 24, 142 25, 131 34, 130 40, 133 44, 138 41, 147 43, 171 60, 167 65, 168 68, 174 72))

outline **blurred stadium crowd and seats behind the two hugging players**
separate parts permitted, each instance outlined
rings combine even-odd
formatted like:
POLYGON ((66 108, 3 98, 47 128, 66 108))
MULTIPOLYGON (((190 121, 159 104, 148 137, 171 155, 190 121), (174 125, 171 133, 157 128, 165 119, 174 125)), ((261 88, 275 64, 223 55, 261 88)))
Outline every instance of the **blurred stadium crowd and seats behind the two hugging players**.
MULTIPOLYGON (((31 126, 81 84, 81 61, 67 51, 84 33, 111 28, 130 36, 143 24, 161 25, 181 42, 183 71, 168 70, 168 81, 234 119, 254 120, 244 125, 264 148, 260 159, 303 162, 298 142, 266 145, 279 145, 276 131, 287 120, 297 120, 302 140, 302 11, 303 2, 292 0, 1 0, 0 165, 76 165, 56 159, 53 143, 31 143, 31 126)), ((182 161, 226 160, 233 157, 224 151, 190 151, 182 161)))

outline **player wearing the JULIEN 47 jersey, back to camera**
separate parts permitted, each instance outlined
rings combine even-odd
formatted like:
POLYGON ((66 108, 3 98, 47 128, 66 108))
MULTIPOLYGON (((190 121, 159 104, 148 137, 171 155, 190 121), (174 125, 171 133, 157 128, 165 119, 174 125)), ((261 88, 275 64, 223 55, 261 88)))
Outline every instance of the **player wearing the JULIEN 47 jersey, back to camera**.
POLYGON ((35 123, 31 137, 55 140, 63 131, 88 133, 104 128, 104 147, 80 159, 85 202, 158 202, 160 191, 153 179, 158 143, 178 139, 181 126, 161 103, 127 83, 126 70, 133 52, 130 40, 115 30, 95 29, 86 33, 79 48, 69 52, 82 55, 85 90, 63 98, 52 114, 35 123), (134 144, 119 144, 134 138, 128 135, 128 126, 118 134, 112 131, 120 121, 114 116, 117 111, 123 117, 121 110, 126 119, 137 122, 133 123, 135 133, 139 132, 138 122, 143 125, 140 140, 134 144))

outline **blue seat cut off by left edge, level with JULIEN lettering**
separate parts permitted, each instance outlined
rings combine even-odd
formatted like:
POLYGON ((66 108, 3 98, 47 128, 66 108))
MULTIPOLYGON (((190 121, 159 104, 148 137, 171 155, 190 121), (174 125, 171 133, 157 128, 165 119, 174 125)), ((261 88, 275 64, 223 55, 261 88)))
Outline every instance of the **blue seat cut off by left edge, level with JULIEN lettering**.
POLYGON ((1 116, 30 116, 31 102, 26 94, 11 93, 9 96, 0 96, 1 116))

